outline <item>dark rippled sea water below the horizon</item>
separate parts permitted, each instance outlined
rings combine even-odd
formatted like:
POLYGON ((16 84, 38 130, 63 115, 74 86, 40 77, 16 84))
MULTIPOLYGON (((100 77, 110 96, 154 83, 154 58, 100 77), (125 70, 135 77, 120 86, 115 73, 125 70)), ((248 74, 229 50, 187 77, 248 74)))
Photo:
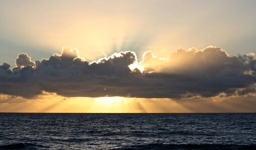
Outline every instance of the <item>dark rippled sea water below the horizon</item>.
POLYGON ((256 149, 256 113, 0 113, 0 149, 256 149))

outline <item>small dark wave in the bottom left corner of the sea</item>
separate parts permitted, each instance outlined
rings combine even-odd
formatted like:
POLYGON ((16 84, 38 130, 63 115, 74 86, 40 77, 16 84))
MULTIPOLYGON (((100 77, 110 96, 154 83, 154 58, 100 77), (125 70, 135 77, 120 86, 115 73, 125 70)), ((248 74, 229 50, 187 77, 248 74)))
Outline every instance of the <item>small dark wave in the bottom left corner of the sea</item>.
POLYGON ((11 143, 6 145, 0 145, 0 149, 39 149, 49 148, 48 146, 33 144, 29 142, 11 143))

